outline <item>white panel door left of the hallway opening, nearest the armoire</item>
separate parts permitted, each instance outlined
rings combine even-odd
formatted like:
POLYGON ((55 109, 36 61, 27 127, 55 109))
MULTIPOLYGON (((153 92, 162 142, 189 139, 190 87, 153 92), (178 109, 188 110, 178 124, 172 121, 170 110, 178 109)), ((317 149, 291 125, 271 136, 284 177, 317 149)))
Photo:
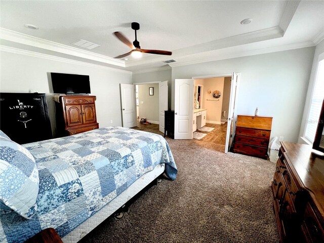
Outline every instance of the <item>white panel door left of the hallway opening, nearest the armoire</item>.
POLYGON ((136 127, 135 85, 120 84, 120 99, 123 127, 136 127))

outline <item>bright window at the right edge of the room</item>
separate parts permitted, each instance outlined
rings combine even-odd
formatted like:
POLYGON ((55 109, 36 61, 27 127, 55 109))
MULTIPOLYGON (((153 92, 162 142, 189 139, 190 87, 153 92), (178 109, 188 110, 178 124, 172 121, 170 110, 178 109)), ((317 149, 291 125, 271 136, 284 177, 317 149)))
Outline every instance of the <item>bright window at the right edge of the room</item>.
POLYGON ((318 63, 318 71, 307 116, 307 124, 304 137, 310 142, 314 141, 318 124, 318 118, 324 98, 324 60, 318 63))

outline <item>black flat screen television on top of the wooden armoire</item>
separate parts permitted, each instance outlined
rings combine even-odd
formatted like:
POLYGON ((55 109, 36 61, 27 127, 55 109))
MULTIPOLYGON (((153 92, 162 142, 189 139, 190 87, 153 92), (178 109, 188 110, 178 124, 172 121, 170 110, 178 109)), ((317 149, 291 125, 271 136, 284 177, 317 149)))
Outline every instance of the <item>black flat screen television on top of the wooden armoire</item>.
POLYGON ((90 94, 89 75, 51 72, 54 94, 90 94))

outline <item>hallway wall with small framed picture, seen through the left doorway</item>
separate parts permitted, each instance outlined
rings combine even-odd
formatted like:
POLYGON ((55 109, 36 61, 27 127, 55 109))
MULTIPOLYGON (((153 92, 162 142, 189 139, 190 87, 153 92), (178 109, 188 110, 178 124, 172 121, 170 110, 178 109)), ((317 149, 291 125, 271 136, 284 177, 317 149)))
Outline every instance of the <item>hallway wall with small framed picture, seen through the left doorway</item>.
POLYGON ((139 85, 138 99, 140 118, 146 117, 146 120, 158 124, 158 84, 139 85), (149 95, 149 87, 153 87, 153 95, 149 95))

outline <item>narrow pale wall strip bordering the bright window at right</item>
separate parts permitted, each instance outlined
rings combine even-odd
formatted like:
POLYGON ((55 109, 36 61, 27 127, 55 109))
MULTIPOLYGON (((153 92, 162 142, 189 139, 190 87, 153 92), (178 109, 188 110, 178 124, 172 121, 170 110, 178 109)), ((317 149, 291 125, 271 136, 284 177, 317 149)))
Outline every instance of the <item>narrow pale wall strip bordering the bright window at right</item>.
MULTIPOLYGON (((304 133, 305 133, 308 111, 310 109, 310 101, 312 98, 313 88, 315 85, 315 78, 316 78, 316 71, 318 68, 318 62, 320 61, 320 59, 322 59, 323 55, 324 55, 324 40, 321 41, 320 43, 318 43, 315 48, 312 70, 310 73, 309 85, 308 85, 307 94, 306 94, 306 102, 305 102, 305 107, 304 107, 304 112, 303 112, 303 118, 302 118, 302 123, 300 126, 300 132, 299 132, 299 138, 298 138, 299 143, 306 143, 305 140, 303 140, 301 137, 304 136, 304 133)), ((321 80, 321 82, 323 82, 323 80, 321 80)))

